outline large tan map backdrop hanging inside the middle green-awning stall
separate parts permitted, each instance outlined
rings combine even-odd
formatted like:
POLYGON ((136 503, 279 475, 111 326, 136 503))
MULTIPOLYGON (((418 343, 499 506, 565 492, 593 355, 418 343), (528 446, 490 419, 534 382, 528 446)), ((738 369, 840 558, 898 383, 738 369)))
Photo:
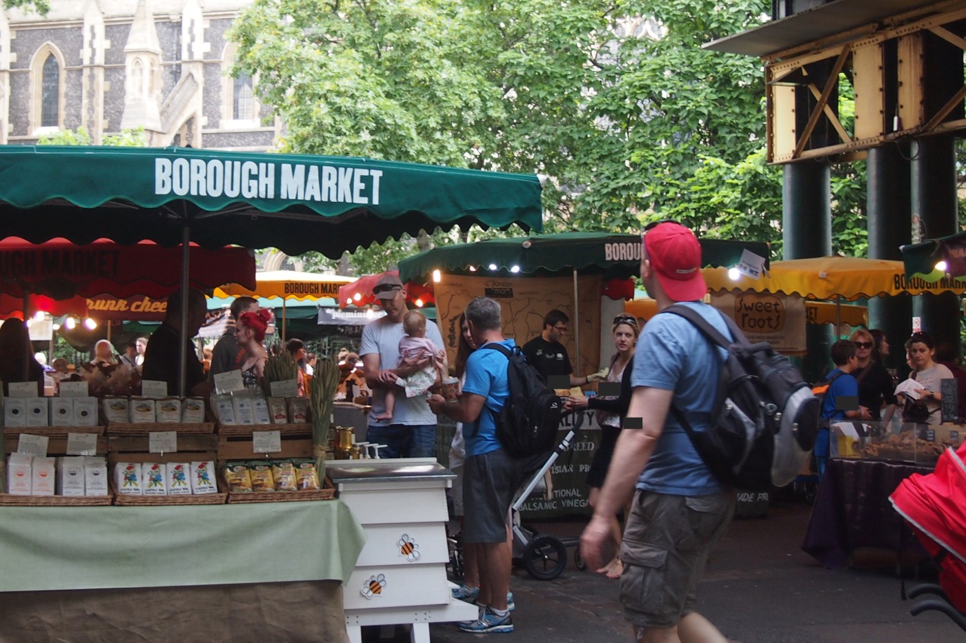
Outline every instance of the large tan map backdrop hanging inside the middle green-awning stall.
POLYGON ((575 329, 581 331, 581 364, 575 373, 585 375, 598 370, 600 363, 600 317, 603 281, 599 275, 578 277, 580 320, 574 314, 573 277, 487 277, 443 274, 434 285, 436 318, 440 325, 449 363, 456 361, 460 329, 458 320, 469 300, 477 296, 496 299, 503 307, 503 336, 523 346, 543 330, 543 318, 554 308, 570 318, 570 332, 561 341, 577 358, 575 329))

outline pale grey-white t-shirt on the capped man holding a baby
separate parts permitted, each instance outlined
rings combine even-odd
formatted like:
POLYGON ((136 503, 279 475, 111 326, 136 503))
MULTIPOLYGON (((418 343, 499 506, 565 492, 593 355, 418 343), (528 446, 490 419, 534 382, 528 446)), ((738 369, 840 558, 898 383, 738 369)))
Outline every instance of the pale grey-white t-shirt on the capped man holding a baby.
MULTIPOLYGON (((403 330, 402 322, 393 323, 386 317, 369 322, 362 329, 359 357, 378 353, 380 369, 391 369, 399 363, 399 340, 405 334, 406 331, 403 330)), ((432 341, 439 347, 444 346, 442 343, 442 335, 440 335, 440 328, 436 325, 436 322, 427 320, 426 339, 432 341)), ((400 391, 396 392, 396 407, 392 412, 392 419, 372 419, 374 415, 384 413, 384 399, 385 389, 377 388, 373 390, 372 408, 369 410, 370 427, 387 427, 390 424, 403 424, 411 427, 436 425, 436 415, 430 409, 429 405, 426 404, 426 398, 407 398, 400 391)))

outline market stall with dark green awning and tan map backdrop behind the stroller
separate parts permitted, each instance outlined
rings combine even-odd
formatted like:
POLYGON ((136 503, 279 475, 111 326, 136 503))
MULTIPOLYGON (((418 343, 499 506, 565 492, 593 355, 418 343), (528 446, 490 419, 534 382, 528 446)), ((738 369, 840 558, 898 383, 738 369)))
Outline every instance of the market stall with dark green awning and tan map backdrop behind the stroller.
MULTIPOLYGON (((735 266, 746 250, 768 265, 766 243, 701 239, 706 266, 735 266)), ((450 362, 460 313, 472 297, 485 295, 502 304, 503 334, 520 345, 541 332, 548 312, 556 308, 566 313, 571 332, 561 341, 574 358, 574 372, 584 375, 607 366, 612 347, 607 321, 624 311, 625 299, 633 298, 639 266, 639 235, 562 233, 435 248, 401 261, 399 276, 404 283, 433 288, 450 362)), ((583 415, 572 450, 551 470, 554 498, 527 502, 526 517, 590 513, 585 478, 600 427, 593 411, 583 415)), ((564 416, 561 438, 574 420, 573 414, 564 416)))

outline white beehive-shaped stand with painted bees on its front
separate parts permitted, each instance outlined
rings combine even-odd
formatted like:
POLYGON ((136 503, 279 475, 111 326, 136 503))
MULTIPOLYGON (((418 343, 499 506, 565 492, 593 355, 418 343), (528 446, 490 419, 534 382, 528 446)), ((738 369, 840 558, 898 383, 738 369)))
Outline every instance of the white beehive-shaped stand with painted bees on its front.
POLYGON ((326 472, 368 535, 345 592, 353 643, 363 626, 396 624, 412 624, 413 643, 429 643, 430 623, 476 618, 446 580, 446 489, 455 474, 433 458, 330 461, 326 472))

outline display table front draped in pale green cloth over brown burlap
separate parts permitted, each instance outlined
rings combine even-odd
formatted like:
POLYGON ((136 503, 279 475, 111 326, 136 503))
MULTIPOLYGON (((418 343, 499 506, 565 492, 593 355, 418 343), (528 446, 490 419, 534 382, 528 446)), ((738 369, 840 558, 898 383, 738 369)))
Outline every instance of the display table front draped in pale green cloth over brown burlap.
POLYGON ((0 507, 0 623, 11 640, 345 641, 365 538, 337 500, 0 507))

